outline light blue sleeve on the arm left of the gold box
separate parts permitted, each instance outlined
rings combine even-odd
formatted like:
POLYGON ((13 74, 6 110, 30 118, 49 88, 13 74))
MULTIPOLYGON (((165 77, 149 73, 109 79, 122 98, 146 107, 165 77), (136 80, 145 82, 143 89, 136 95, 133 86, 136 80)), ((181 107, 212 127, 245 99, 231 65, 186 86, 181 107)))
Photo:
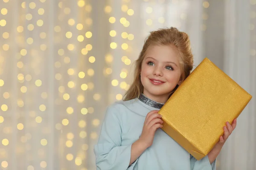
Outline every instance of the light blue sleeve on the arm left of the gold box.
POLYGON ((99 141, 94 146, 97 170, 133 170, 137 160, 129 166, 131 144, 121 146, 122 122, 118 110, 109 107, 102 123, 99 141))

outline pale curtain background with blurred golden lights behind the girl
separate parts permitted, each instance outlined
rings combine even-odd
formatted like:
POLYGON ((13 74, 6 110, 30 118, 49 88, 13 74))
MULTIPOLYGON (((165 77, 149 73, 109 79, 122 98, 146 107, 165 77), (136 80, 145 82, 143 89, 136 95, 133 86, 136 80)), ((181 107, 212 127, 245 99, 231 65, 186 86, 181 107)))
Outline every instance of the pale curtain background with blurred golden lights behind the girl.
MULTIPOLYGON (((0 0, 0 168, 95 170, 105 108, 149 31, 174 26, 256 96, 256 0, 0 0)), ((254 97, 255 98, 255 97, 254 97)), ((256 100, 218 170, 256 169, 256 100)))

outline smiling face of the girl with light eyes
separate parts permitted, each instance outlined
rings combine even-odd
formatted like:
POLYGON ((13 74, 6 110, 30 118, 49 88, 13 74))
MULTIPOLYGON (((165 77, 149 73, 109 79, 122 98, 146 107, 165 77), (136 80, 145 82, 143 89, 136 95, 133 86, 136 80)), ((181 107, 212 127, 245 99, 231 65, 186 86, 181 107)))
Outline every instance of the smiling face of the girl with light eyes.
POLYGON ((175 46, 150 46, 142 62, 140 79, 143 94, 148 98, 165 103, 170 92, 180 85, 181 70, 175 46))

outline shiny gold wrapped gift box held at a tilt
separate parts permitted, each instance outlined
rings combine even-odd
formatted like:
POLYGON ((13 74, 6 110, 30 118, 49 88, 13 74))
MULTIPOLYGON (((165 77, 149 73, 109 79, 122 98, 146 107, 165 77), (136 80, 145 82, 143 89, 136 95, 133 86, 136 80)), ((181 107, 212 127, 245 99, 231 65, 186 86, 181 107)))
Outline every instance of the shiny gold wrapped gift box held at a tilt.
POLYGON ((205 58, 160 109, 162 129, 195 159, 206 156, 252 96, 205 58))

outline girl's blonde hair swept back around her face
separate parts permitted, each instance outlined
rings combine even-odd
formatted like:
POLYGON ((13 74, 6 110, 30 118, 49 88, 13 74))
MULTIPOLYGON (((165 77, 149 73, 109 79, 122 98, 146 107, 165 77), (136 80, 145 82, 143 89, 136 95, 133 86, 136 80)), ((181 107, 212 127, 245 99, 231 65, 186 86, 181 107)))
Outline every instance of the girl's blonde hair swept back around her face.
MULTIPOLYGON (((177 28, 161 28, 157 31, 151 31, 150 35, 145 39, 142 51, 139 58, 135 62, 134 80, 125 94, 124 101, 131 100, 140 96, 143 93, 143 85, 140 80, 140 71, 143 59, 151 45, 169 45, 175 46, 179 53, 179 61, 181 68, 182 82, 189 76, 193 68, 193 55, 190 47, 188 34, 179 31, 177 28)), ((178 85, 172 90, 172 93, 178 88, 178 85)), ((170 97, 169 96, 169 97, 170 97)))

